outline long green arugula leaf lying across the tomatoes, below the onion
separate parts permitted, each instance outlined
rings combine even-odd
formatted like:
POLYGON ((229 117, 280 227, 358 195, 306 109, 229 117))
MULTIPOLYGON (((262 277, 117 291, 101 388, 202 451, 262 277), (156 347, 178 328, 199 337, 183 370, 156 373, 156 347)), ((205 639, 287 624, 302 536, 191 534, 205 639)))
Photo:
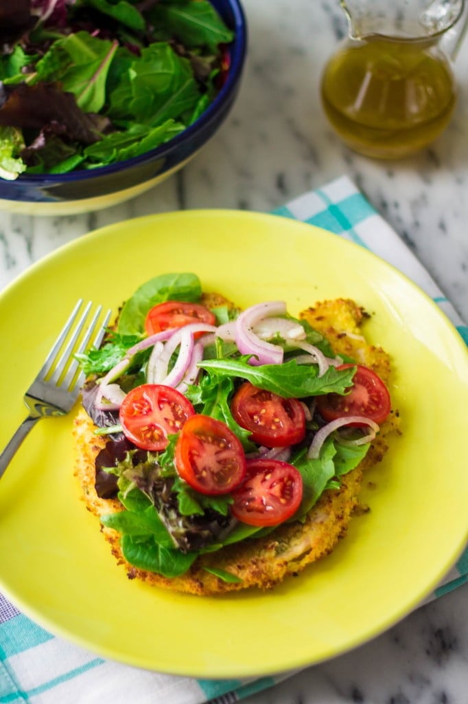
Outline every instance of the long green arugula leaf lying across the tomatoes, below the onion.
POLYGON ((354 367, 337 370, 330 366, 324 375, 318 377, 316 365, 298 365, 292 359, 284 364, 254 367, 247 363, 247 356, 238 360, 204 360, 198 366, 219 377, 248 379, 259 389, 272 391, 283 398, 306 398, 330 392, 343 395, 351 386, 356 372, 354 367))

